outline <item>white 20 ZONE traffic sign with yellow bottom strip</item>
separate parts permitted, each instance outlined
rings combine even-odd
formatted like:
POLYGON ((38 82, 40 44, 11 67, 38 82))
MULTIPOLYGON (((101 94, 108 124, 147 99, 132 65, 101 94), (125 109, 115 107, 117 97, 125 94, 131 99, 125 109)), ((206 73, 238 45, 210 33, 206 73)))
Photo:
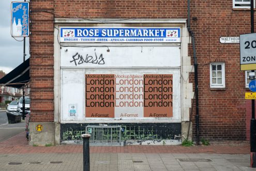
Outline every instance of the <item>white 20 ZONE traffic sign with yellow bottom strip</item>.
POLYGON ((256 70, 256 33, 240 35, 240 70, 256 70))

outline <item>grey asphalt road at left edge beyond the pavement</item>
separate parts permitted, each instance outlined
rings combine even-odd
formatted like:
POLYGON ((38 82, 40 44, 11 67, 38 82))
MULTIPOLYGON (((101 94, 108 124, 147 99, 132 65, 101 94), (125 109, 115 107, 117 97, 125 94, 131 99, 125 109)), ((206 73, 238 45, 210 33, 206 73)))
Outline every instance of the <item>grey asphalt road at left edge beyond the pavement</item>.
POLYGON ((25 131, 25 125, 25 121, 16 124, 8 124, 6 112, 0 112, 0 142, 25 131))

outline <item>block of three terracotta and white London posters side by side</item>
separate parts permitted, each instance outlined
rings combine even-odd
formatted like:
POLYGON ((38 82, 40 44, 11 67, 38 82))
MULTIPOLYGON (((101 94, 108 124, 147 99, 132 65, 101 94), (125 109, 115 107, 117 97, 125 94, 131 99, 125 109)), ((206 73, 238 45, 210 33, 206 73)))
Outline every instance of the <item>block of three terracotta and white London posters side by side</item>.
POLYGON ((86 117, 172 117, 172 74, 86 74, 86 117))

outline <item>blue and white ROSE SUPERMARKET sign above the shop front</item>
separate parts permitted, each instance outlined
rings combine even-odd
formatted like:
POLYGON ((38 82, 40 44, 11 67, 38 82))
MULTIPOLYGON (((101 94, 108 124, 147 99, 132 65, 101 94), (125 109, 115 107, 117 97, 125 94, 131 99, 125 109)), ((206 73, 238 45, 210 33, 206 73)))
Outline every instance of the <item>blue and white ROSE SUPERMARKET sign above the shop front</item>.
POLYGON ((61 27, 61 42, 180 42, 180 28, 61 27))

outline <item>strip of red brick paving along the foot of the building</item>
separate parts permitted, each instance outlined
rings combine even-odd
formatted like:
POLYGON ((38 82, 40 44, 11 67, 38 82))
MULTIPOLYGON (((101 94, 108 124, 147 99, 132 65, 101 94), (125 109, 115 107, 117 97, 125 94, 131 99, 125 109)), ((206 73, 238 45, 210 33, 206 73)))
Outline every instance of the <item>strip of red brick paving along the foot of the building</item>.
MULTIPOLYGON (((29 146, 25 132, 0 143, 0 153, 81 153, 82 145, 29 146)), ((128 146, 91 146, 92 153, 215 153, 249 154, 249 143, 213 144, 184 147, 181 145, 128 145, 128 146)))

